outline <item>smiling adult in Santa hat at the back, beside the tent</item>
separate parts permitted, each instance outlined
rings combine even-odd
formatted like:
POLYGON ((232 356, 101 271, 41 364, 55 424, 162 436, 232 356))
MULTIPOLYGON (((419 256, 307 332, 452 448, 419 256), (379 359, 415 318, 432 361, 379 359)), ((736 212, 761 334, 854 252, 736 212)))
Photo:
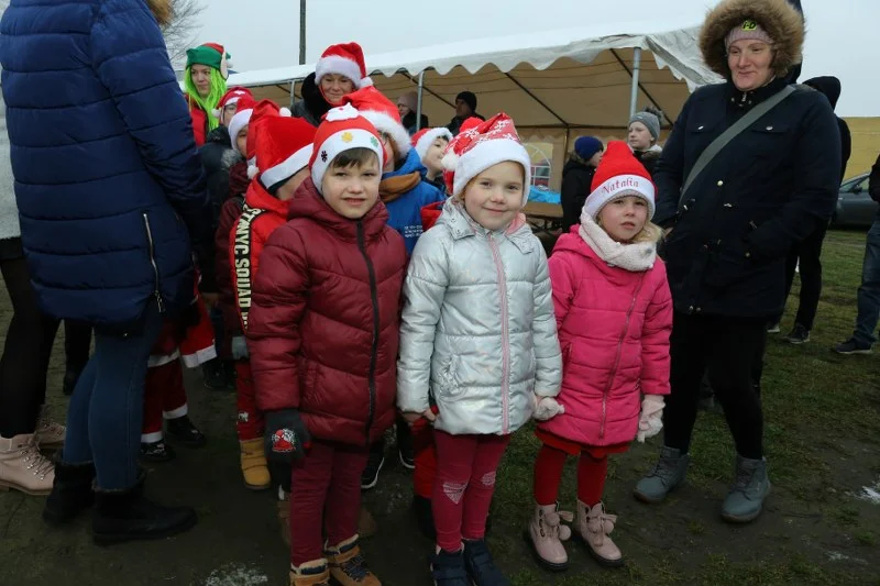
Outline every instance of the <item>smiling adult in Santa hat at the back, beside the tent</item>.
POLYGON ((372 86, 366 75, 364 52, 358 43, 330 45, 321 54, 315 73, 302 80, 302 99, 290 108, 295 118, 318 126, 328 110, 342 104, 352 91, 372 86))

